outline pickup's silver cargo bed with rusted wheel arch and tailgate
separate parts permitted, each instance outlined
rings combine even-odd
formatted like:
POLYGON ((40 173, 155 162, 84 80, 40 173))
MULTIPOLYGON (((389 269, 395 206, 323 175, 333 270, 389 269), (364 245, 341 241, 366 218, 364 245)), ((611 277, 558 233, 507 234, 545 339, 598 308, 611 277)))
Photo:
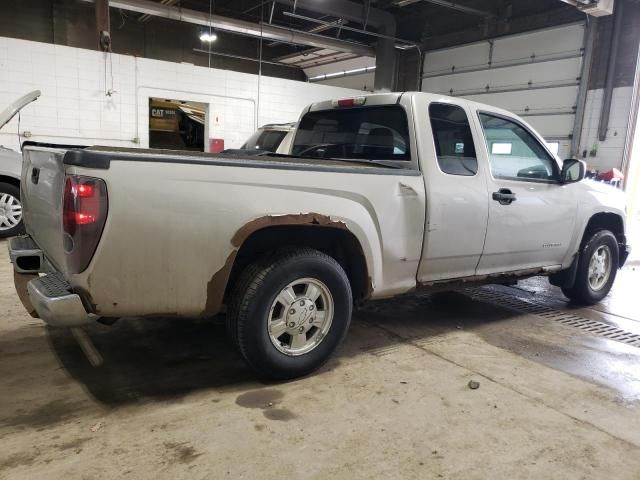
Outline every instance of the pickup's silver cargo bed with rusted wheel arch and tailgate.
POLYGON ((350 231, 376 264, 374 295, 415 286, 425 200, 422 176, 412 168, 33 145, 24 151, 22 175, 28 234, 98 315, 216 313, 239 239, 283 219, 350 231), (80 273, 69 272, 63 247, 66 175, 102 179, 108 192, 101 239, 80 273))

